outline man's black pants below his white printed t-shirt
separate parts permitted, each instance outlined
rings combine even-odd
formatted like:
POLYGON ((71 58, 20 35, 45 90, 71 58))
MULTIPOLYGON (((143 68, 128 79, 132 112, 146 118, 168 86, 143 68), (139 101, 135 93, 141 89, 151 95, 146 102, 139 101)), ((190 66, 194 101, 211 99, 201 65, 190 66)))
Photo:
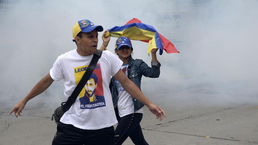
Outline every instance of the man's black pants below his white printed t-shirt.
POLYGON ((99 130, 83 130, 62 122, 57 125, 57 132, 52 145, 114 145, 114 127, 99 130))

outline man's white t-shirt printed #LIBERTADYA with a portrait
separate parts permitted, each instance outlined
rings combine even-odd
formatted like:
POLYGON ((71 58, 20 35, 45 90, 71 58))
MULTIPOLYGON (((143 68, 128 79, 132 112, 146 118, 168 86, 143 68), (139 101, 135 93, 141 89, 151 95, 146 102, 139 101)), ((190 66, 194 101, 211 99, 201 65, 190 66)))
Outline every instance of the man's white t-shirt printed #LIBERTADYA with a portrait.
MULTIPOLYGON (((93 55, 81 56, 76 49, 58 56, 50 70, 53 80, 64 79, 64 100, 72 94, 93 55)), ((114 76, 122 65, 122 61, 109 51, 103 51, 91 77, 96 81, 94 99, 89 99, 84 87, 71 108, 64 113, 60 121, 80 129, 98 130, 118 123, 111 93, 110 77, 114 76)))

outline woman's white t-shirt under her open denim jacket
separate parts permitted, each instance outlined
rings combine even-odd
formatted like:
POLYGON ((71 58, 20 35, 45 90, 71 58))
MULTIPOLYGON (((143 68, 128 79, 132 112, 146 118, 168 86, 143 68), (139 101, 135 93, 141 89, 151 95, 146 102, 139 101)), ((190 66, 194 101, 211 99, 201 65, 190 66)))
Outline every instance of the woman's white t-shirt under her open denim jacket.
MULTIPOLYGON (((123 64, 121 66, 121 70, 125 73, 126 76, 128 76, 127 69, 128 69, 128 64, 123 64)), ((115 87, 116 87, 116 90, 118 91, 117 108, 118 108, 118 115, 120 117, 126 116, 131 113, 143 113, 143 108, 140 108, 136 112, 134 111, 134 105, 133 105, 131 95, 122 87, 122 85, 117 80, 115 80, 115 87)))

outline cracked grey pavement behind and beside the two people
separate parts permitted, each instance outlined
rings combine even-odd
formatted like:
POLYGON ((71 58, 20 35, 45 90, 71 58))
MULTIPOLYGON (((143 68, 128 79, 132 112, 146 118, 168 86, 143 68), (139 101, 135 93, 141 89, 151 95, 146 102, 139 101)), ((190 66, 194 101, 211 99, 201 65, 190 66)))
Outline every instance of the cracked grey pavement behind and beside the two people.
MULTIPOLYGON (((160 96, 145 92, 167 114, 158 121, 144 107, 140 125, 146 141, 150 145, 258 145, 257 96, 214 93, 210 89, 207 85, 177 87, 160 96)), ((9 115, 11 107, 1 109, 1 145, 51 144, 56 133, 51 114, 58 105, 27 105, 18 118, 9 115)), ((131 145, 131 139, 124 144, 131 145)))

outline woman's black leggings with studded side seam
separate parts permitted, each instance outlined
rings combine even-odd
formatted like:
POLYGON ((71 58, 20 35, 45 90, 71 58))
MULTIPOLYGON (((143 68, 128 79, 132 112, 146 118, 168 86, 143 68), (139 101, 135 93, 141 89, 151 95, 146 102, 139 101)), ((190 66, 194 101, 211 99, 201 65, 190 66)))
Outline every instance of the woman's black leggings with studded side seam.
POLYGON ((115 108, 118 125, 115 129, 115 145, 122 144, 129 136, 136 145, 149 145, 142 134, 140 121, 142 113, 132 113, 123 117, 118 115, 118 108, 115 108))

